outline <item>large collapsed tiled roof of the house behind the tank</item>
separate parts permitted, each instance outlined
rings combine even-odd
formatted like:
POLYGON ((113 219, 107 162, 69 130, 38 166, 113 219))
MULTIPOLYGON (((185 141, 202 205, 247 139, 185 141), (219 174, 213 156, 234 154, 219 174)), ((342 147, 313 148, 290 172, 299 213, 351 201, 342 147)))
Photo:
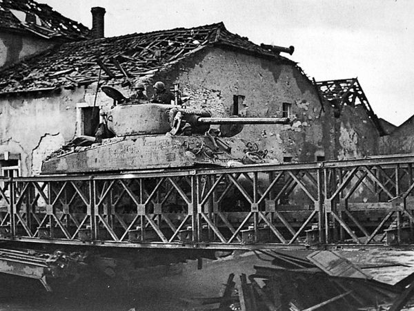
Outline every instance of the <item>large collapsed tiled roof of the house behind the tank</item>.
POLYGON ((226 46, 296 66, 277 48, 258 46, 226 30, 224 23, 213 23, 62 44, 2 70, 0 94, 90 84, 99 72, 102 80, 117 82, 145 77, 208 46, 226 46))

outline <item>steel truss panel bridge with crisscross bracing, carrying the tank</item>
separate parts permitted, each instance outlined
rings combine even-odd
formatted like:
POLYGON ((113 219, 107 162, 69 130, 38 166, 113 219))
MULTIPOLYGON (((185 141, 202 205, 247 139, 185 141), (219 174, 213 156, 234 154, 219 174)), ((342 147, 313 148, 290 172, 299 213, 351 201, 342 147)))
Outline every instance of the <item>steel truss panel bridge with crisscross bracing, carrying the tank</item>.
POLYGON ((414 155, 0 179, 0 239, 183 249, 411 245, 414 155))

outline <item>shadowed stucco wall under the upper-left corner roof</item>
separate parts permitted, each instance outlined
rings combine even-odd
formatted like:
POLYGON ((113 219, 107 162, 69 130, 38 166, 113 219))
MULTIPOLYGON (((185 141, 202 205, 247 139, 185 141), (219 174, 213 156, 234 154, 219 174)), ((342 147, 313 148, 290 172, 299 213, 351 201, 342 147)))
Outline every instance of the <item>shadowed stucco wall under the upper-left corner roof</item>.
POLYGON ((0 67, 46 50, 53 44, 55 42, 46 39, 0 32, 0 67))

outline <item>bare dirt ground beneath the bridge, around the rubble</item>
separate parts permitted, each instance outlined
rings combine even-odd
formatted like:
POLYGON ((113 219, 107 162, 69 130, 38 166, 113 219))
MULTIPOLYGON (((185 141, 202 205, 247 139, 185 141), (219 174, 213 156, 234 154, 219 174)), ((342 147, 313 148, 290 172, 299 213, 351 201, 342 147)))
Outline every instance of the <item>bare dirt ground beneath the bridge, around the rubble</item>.
MULTIPOLYGON (((306 256, 311 251, 283 251, 293 256, 306 256)), ((414 250, 352 249, 338 251, 354 263, 402 264, 364 270, 378 281, 396 283, 414 272, 414 250)), ((135 275, 127 290, 117 288, 110 281, 86 280, 75 290, 44 292, 35 280, 21 281, 17 277, 0 276, 0 311, 28 310, 193 310, 190 300, 197 297, 218 296, 228 274, 239 281, 242 273, 253 274, 253 265, 271 266, 270 258, 257 257, 253 252, 237 253, 217 261, 204 260, 203 269, 197 262, 184 265, 141 271, 135 275), (114 288, 115 287, 115 288, 114 288)))

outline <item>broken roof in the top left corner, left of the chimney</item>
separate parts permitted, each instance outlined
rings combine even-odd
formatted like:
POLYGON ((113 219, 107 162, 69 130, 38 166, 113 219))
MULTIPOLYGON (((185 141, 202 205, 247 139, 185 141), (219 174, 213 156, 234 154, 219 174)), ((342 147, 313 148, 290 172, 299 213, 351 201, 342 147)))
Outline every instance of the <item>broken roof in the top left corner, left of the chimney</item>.
POLYGON ((90 30, 50 6, 32 0, 0 0, 0 30, 23 32, 43 39, 75 41, 90 38, 90 30))

